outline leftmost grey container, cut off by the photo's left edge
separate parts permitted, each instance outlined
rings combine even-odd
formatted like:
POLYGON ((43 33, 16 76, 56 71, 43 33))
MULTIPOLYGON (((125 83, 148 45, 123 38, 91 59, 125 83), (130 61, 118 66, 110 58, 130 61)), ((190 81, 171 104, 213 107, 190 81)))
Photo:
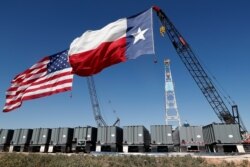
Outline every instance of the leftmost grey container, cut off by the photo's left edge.
POLYGON ((1 129, 0 130, 0 151, 8 151, 10 147, 10 141, 13 137, 14 130, 1 129))

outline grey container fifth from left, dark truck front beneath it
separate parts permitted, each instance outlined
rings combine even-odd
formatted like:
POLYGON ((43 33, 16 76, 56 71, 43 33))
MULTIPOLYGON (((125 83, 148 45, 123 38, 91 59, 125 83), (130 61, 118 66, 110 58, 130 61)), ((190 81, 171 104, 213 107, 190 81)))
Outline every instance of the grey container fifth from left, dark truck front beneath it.
POLYGON ((72 143, 72 151, 74 152, 90 152, 95 151, 97 140, 97 128, 95 127, 75 127, 72 143))

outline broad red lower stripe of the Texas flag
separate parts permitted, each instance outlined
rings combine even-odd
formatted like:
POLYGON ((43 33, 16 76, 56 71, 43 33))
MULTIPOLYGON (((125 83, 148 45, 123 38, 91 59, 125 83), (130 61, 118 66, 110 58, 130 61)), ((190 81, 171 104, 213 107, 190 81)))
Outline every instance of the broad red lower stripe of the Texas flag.
POLYGON ((96 49, 69 56, 73 73, 90 76, 102 71, 105 67, 126 61, 126 38, 113 42, 104 42, 96 49))

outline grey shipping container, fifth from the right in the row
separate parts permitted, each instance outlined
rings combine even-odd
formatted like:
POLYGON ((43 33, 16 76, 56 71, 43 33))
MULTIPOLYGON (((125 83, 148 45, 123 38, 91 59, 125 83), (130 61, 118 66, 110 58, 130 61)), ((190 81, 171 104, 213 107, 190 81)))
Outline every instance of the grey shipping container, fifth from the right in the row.
POLYGON ((97 128, 96 151, 121 152, 123 130, 117 126, 100 126, 97 128))

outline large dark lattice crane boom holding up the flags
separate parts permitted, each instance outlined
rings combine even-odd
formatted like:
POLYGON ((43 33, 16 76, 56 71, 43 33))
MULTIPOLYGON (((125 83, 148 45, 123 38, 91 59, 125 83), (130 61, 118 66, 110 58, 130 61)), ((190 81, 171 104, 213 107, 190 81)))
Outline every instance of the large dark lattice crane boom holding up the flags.
POLYGON ((176 49, 177 54, 202 91, 208 103, 215 111, 218 118, 224 123, 238 123, 241 131, 246 132, 246 127, 238 115, 237 106, 232 106, 232 115, 189 44, 186 40, 184 40, 183 36, 160 8, 154 7, 154 10, 157 12, 157 15, 162 23, 162 27, 160 29, 161 33, 167 33, 174 48, 176 49))

